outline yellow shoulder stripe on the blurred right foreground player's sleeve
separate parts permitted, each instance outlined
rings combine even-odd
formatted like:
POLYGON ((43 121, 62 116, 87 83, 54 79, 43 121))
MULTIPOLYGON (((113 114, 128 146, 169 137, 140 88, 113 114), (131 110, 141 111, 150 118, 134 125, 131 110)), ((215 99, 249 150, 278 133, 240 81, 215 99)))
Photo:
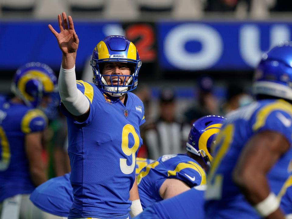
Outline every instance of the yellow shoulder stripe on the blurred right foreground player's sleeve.
POLYGON ((263 127, 266 123, 267 117, 274 111, 274 110, 283 110, 289 113, 292 116, 292 106, 290 103, 280 99, 277 100, 269 105, 264 106, 260 109, 256 116, 256 121, 252 126, 254 131, 258 130, 259 128, 263 127))

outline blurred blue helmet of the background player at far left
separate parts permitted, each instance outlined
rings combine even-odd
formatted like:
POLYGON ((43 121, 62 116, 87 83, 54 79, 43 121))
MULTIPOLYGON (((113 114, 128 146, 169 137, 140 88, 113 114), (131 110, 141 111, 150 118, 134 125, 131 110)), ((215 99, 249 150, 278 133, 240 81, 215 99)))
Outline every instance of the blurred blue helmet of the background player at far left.
POLYGON ((23 100, 26 106, 37 108, 40 106, 43 96, 50 96, 58 92, 57 77, 46 64, 26 63, 16 71, 11 90, 23 100))

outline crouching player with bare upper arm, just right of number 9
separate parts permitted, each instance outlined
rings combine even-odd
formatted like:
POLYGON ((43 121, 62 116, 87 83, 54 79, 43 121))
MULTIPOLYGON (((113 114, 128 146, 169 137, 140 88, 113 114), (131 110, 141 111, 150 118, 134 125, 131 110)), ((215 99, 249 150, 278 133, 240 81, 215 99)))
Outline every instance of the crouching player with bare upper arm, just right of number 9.
POLYGON ((210 146, 223 121, 222 116, 198 119, 190 130, 186 154, 163 155, 141 170, 137 183, 143 209, 206 184, 205 171, 212 159, 210 146))

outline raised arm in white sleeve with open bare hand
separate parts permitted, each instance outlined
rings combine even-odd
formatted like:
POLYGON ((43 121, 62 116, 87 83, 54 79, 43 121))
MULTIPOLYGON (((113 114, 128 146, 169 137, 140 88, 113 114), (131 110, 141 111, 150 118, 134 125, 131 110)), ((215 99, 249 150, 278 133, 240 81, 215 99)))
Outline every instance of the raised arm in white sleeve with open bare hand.
POLYGON ((83 115, 89 112, 89 100, 76 86, 75 60, 79 39, 74 30, 72 17, 68 16, 67 20, 65 12, 62 12, 62 17, 58 15, 60 33, 49 25, 49 29, 57 38, 62 51, 62 66, 58 82, 59 93, 66 109, 74 115, 77 121, 82 122, 87 118, 84 118, 83 115))

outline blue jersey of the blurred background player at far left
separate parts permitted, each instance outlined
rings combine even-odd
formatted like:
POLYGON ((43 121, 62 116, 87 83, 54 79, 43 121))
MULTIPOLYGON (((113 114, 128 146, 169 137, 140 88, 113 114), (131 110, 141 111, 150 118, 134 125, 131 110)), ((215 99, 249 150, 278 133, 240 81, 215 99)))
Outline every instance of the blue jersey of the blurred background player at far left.
POLYGON ((43 131, 46 125, 47 117, 39 109, 0 97, 0 202, 17 194, 30 194, 35 188, 30 179, 25 136, 43 131))

